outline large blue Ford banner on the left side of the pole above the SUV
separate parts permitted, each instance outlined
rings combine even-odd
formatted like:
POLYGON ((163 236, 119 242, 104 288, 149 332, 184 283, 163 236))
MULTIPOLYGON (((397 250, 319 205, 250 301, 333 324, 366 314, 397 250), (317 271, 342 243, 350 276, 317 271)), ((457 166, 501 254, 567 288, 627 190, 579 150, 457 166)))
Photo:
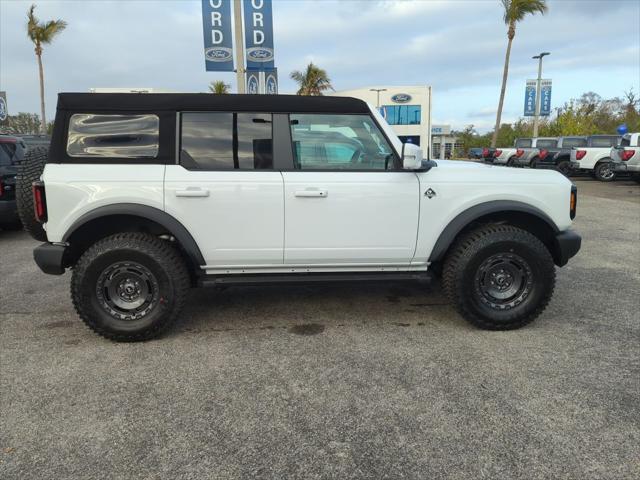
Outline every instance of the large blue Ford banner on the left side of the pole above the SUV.
POLYGON ((233 72, 231 0, 202 0, 202 32, 207 72, 233 72))

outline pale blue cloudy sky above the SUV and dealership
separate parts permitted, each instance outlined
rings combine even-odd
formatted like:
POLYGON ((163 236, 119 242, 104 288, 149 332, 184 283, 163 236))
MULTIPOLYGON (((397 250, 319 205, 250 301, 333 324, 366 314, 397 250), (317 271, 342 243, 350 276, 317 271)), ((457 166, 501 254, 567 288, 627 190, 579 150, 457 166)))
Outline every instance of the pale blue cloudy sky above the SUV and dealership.
MULTIPOLYGON (((9 113, 38 112, 38 75, 26 37, 31 1, 0 0, 0 90, 9 113)), ((47 117, 57 92, 91 87, 206 91, 232 73, 205 72, 200 0, 39 1, 42 20, 69 23, 45 46, 47 117)), ((518 26, 503 121, 522 114, 531 56, 550 51, 552 107, 586 91, 640 91, 640 0, 549 0, 545 16, 518 26)), ((313 61, 337 90, 376 85, 433 86, 433 122, 493 126, 507 44, 499 0, 274 0, 280 92, 313 61)))

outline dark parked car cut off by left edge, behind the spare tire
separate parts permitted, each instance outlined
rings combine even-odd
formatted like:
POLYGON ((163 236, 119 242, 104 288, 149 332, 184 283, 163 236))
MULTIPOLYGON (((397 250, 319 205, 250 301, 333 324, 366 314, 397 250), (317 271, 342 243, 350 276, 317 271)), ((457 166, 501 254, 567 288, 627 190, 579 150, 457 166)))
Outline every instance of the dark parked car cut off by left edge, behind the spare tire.
POLYGON ((0 229, 21 227, 16 207, 16 174, 26 150, 21 138, 0 135, 0 229))

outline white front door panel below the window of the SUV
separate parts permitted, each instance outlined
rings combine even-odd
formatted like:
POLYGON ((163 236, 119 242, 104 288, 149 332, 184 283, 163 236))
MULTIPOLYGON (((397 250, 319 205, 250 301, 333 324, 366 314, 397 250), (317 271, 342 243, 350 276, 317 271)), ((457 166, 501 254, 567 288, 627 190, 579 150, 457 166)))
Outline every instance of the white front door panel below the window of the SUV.
POLYGON ((409 265, 419 184, 401 172, 283 172, 285 263, 409 265), (311 194, 317 196, 307 196, 311 194))

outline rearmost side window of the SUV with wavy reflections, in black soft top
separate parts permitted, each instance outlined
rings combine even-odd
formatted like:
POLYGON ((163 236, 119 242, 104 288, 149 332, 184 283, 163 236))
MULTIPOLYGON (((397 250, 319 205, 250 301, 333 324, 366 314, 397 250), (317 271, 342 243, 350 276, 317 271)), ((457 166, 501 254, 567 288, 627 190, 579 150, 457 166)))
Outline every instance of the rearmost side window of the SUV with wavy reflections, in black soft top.
POLYGON ((76 113, 69 120, 67 155, 95 158, 155 158, 160 119, 157 115, 76 113))

